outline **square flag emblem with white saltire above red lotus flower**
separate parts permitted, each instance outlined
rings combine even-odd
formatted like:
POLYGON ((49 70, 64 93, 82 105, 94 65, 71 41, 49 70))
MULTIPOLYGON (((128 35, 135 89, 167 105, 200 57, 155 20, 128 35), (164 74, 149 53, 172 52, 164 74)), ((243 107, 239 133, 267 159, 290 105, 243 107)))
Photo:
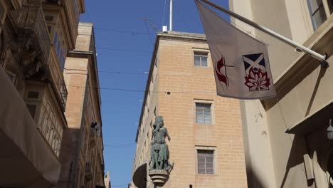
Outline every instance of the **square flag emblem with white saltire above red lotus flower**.
POLYGON ((263 53, 248 54, 243 56, 245 69, 245 85, 249 91, 269 90, 270 78, 266 71, 263 53))

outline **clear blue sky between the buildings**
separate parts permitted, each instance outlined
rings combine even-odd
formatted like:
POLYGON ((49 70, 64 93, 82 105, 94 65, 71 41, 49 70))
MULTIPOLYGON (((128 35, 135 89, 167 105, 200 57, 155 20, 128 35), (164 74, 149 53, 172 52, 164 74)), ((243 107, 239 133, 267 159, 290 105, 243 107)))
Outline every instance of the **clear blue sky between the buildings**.
MULTIPOLYGON (((228 0, 213 2, 228 7, 228 0)), ((169 0, 85 0, 85 8, 81 21, 95 26, 105 171, 111 173, 112 187, 127 187, 147 82, 144 72, 149 71, 157 32, 153 28, 169 25, 169 0)), ((194 0, 174 0, 174 31, 203 33, 194 0)))

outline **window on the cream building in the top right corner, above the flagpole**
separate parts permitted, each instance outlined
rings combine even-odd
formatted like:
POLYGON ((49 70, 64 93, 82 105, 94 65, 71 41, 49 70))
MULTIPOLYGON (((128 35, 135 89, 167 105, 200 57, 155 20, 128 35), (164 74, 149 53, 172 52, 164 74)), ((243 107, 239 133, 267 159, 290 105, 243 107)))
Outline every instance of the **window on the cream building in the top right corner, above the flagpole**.
POLYGON ((322 1, 323 0, 307 0, 314 30, 317 30, 327 19, 322 1))

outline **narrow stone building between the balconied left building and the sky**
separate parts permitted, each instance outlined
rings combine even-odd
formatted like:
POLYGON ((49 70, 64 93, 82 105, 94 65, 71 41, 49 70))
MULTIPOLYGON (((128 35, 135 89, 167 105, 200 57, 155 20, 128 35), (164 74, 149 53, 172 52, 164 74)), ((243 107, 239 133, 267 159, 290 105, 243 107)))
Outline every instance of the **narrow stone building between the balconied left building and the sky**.
POLYGON ((68 130, 60 151, 57 187, 104 187, 104 157, 99 78, 92 23, 81 23, 73 51, 65 61, 68 130))

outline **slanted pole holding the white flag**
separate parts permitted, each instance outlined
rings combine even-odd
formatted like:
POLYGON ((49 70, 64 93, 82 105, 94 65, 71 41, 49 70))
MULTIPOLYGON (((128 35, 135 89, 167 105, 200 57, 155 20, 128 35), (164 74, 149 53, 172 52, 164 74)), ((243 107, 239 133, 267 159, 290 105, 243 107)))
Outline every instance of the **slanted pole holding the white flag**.
POLYGON ((208 0, 196 0, 196 1, 203 1, 204 3, 213 6, 214 8, 223 11, 224 13, 233 16, 236 19, 239 19, 240 21, 243 21, 244 23, 248 23, 248 25, 253 26, 254 28, 258 28, 260 31, 263 31, 264 33, 268 33, 270 36, 273 36, 274 38, 277 38, 278 40, 289 44, 290 46, 300 49, 301 51, 310 54, 313 58, 316 58, 317 60, 322 63, 323 66, 328 67, 328 63, 326 61, 326 55, 323 56, 315 51, 312 51, 310 48, 307 48, 305 46, 300 45, 299 43, 296 43, 295 41, 290 40, 289 38, 280 35, 279 33, 276 33, 275 31, 270 30, 269 28, 265 28, 264 26, 260 26, 258 23, 255 23, 254 21, 250 21, 249 19, 246 19, 243 16, 240 16, 233 11, 229 11, 228 9, 225 9, 221 6, 218 6, 217 4, 212 3, 208 0))

